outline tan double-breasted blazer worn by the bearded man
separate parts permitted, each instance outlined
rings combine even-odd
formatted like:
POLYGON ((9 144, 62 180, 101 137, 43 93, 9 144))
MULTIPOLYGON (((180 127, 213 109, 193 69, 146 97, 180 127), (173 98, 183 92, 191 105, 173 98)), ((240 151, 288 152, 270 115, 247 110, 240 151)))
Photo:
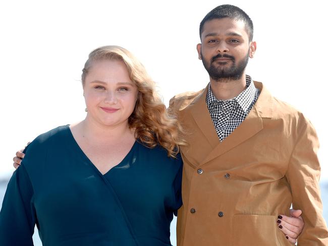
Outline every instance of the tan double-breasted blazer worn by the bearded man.
POLYGON ((298 245, 328 245, 319 191, 316 133, 302 113, 260 96, 246 119, 223 142, 207 109, 207 88, 170 101, 189 146, 184 161, 179 246, 292 245, 277 228, 293 203, 305 227, 298 245))

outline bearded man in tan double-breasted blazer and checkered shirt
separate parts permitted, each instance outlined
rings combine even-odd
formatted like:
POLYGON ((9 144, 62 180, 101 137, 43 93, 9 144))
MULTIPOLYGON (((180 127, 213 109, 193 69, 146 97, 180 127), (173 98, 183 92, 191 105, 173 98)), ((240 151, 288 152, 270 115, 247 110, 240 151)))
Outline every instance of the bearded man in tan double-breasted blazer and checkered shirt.
POLYGON ((245 74, 256 51, 251 19, 235 6, 218 6, 199 32, 210 82, 170 101, 189 144, 181 148, 178 245, 290 245, 293 227, 281 214, 291 203, 304 213, 298 245, 328 245, 315 131, 245 74))

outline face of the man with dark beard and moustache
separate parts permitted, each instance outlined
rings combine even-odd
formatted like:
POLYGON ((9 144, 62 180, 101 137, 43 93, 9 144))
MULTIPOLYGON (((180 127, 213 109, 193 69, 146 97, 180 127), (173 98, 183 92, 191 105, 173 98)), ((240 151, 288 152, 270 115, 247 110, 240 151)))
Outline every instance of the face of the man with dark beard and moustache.
POLYGON ((213 19, 205 22, 197 45, 210 78, 215 81, 238 80, 252 57, 256 43, 250 42, 243 21, 230 18, 213 19))

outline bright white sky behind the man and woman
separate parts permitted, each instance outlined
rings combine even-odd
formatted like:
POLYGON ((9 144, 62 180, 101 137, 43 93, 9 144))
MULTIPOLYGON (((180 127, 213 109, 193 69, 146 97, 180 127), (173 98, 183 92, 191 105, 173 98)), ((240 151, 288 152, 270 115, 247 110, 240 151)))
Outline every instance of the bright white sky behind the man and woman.
MULTIPOLYGON (((327 19, 324 1, 230 1, 254 22, 248 74, 314 124, 321 179, 328 180, 327 19)), ((202 18, 220 1, 2 1, 0 4, 0 179, 16 150, 84 118, 80 75, 88 53, 132 51, 163 100, 205 87, 196 44, 202 18)), ((174 226, 174 225, 173 225, 174 226)))

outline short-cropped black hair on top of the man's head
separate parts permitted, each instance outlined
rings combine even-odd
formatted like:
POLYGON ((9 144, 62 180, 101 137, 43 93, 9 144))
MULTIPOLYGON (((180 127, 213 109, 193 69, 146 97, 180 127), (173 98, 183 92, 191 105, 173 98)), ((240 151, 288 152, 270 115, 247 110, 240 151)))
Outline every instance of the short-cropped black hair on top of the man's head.
POLYGON ((217 6, 216 8, 208 12, 208 14, 204 17, 204 19, 200 22, 199 25, 200 39, 205 22, 213 19, 223 19, 223 18, 231 18, 236 21, 240 21, 240 20, 243 21, 245 23, 246 31, 248 32, 249 41, 252 41, 253 22, 251 18, 249 18, 249 16, 242 9, 229 4, 217 6))

